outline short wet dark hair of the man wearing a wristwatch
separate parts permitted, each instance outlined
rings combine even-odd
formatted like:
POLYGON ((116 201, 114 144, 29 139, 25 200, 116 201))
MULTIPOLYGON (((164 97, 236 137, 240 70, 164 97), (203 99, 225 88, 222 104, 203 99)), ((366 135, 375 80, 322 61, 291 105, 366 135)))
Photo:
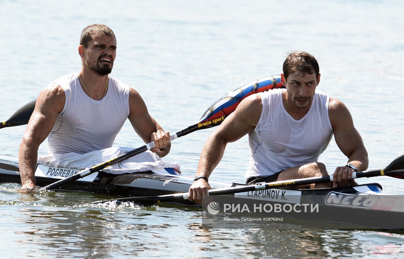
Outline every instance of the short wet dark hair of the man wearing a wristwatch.
POLYGON ((303 76, 305 76, 306 73, 309 75, 316 73, 316 78, 318 78, 320 74, 320 68, 318 67, 316 58, 305 51, 293 51, 288 53, 283 63, 282 71, 285 79, 296 71, 302 73, 303 76))

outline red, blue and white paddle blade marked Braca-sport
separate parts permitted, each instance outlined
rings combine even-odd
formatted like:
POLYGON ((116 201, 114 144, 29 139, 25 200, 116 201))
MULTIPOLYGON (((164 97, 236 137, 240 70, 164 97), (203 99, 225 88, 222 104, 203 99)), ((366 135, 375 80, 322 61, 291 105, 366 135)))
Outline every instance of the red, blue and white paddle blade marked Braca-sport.
POLYGON ((264 77, 237 88, 213 103, 201 117, 200 125, 198 126, 204 128, 215 127, 222 123, 230 113, 234 112, 238 104, 247 96, 274 88, 284 88, 280 82, 280 75, 264 77))

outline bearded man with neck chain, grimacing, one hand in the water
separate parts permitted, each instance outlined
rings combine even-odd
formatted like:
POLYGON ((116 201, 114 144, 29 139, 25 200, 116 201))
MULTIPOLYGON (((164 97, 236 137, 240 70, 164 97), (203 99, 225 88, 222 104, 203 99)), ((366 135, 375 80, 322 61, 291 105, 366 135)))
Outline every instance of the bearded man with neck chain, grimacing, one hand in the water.
POLYGON ((38 96, 19 149, 22 189, 35 186, 38 147, 46 137, 49 153, 85 154, 111 147, 128 118, 143 141, 154 142, 152 152, 169 152, 169 133, 149 115, 139 93, 108 75, 116 57, 114 32, 102 24, 87 26, 78 52, 81 71, 53 81, 38 96))

